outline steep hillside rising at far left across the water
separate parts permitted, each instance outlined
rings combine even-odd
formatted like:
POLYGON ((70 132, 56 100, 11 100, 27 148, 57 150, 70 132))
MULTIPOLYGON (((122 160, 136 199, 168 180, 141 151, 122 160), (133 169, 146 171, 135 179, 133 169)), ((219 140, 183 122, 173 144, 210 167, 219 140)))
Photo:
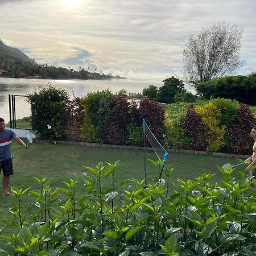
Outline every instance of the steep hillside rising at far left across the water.
POLYGON ((31 63, 36 64, 34 59, 30 59, 25 53, 20 51, 18 48, 7 46, 0 39, 0 68, 1 62, 8 61, 8 63, 24 64, 31 63))

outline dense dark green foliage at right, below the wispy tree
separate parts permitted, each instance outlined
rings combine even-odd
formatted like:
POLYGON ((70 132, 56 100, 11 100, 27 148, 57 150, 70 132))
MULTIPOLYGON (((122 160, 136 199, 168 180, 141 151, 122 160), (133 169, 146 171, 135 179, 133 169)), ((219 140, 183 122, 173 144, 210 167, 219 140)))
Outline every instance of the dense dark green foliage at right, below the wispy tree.
POLYGON ((196 85, 197 93, 205 99, 210 97, 229 98, 244 104, 256 105, 256 73, 248 76, 226 76, 200 82, 196 85))

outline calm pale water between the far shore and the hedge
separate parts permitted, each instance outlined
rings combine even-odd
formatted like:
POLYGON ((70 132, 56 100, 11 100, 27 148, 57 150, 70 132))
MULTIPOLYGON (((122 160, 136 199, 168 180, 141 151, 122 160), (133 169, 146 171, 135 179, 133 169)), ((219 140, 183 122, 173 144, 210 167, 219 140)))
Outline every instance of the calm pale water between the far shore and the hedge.
MULTIPOLYGON (((44 79, 12 79, 0 77, 0 117, 9 122, 8 95, 26 95, 40 88, 47 88, 50 82, 55 88, 62 88, 72 96, 84 97, 89 92, 110 89, 113 93, 125 89, 127 93, 142 93, 142 90, 152 84, 157 87, 163 85, 162 80, 139 80, 139 79, 110 79, 110 80, 44 80, 44 79)), ((191 88, 187 88, 193 92, 191 88)), ((23 99, 20 97, 20 100, 23 99)), ((20 103, 20 109, 16 112, 16 118, 26 117, 30 114, 30 106, 20 103)))

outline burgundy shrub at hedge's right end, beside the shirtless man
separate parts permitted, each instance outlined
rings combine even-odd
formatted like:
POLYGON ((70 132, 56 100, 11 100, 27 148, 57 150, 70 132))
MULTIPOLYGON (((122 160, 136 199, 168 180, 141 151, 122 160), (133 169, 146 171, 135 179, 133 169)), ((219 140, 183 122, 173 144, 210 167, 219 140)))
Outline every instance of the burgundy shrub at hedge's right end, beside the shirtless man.
POLYGON ((255 127, 256 119, 249 105, 241 105, 237 110, 237 117, 233 120, 228 130, 227 137, 233 152, 250 154, 253 144, 250 132, 255 127))

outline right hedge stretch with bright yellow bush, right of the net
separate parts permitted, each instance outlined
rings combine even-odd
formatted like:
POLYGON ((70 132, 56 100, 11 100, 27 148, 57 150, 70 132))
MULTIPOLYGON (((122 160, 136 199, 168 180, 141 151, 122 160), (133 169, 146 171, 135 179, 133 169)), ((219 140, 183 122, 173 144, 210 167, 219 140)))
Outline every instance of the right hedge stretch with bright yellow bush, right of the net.
POLYGON ((248 154, 255 123, 249 105, 217 98, 204 105, 190 105, 176 118, 167 112, 164 132, 172 148, 248 154))

